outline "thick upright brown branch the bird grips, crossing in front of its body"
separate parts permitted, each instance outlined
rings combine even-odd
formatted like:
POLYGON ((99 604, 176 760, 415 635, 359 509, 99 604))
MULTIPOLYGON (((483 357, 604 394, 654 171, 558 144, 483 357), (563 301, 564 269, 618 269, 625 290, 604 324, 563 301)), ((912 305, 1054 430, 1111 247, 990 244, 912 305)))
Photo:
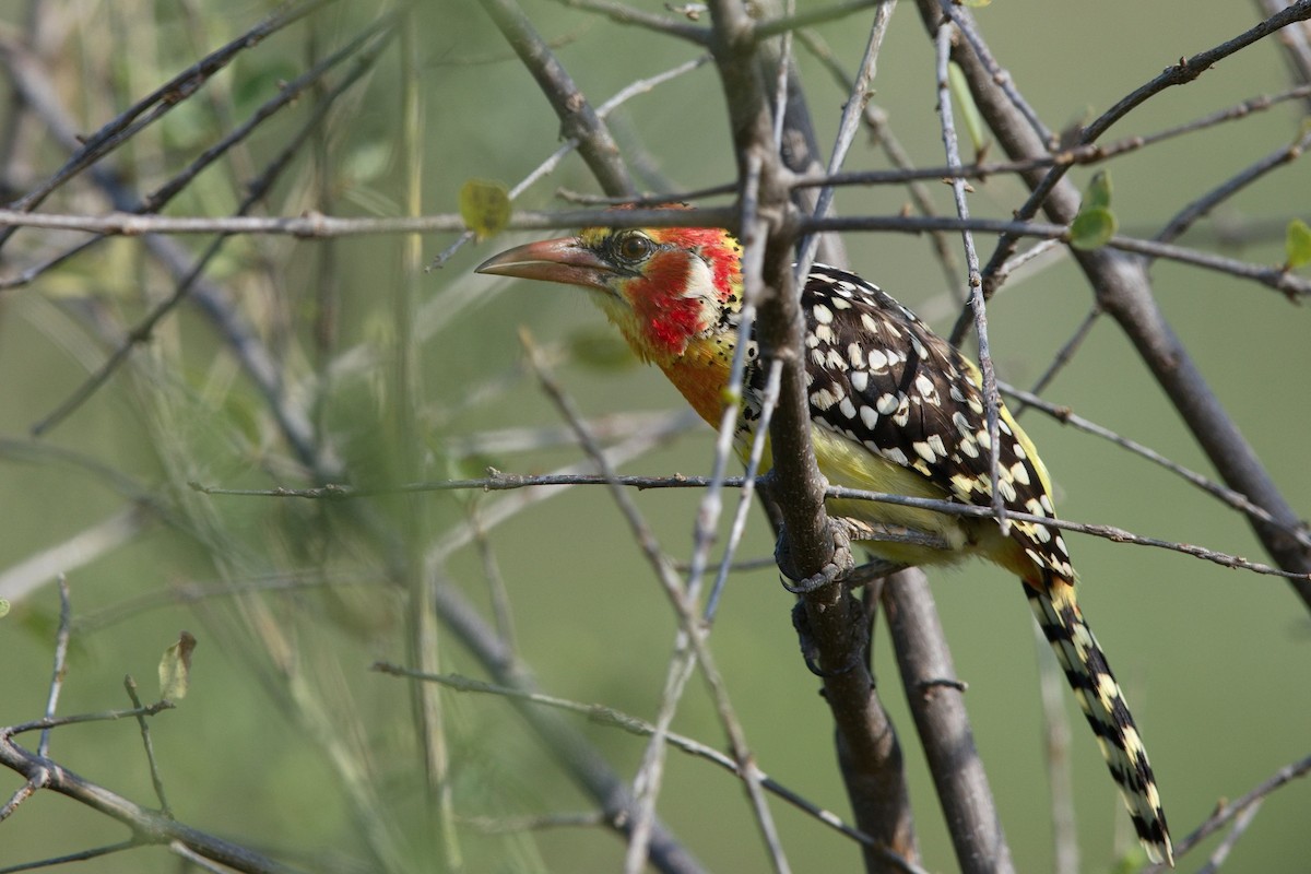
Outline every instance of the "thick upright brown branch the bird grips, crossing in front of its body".
MULTIPOLYGON (((763 494, 781 520, 780 566, 809 582, 839 579, 851 556, 838 540, 823 504, 823 480, 810 444, 801 346, 800 300, 792 286, 791 218, 785 170, 773 145, 770 83, 755 54, 753 22, 733 0, 711 4, 712 45, 725 97, 742 190, 741 238, 746 299, 759 308, 756 339, 762 358, 783 362, 779 404, 770 425, 773 468, 763 494)), ((865 664, 868 625, 846 586, 806 584, 798 620, 804 647, 823 674, 832 710, 838 756, 861 831, 894 853, 918 858, 901 752, 888 715, 874 694, 865 664)), ((886 860, 864 854, 871 871, 886 860)))

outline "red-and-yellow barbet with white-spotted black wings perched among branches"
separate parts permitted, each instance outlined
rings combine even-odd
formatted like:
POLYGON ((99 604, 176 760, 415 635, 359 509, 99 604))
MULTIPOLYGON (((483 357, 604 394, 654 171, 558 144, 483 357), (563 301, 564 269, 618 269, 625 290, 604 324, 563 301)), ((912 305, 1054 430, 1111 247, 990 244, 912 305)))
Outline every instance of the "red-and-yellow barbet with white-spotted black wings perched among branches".
MULTIPOLYGON (((720 228, 593 227, 502 252, 479 273, 578 286, 633 352, 654 364, 717 427, 738 402, 743 460, 760 421, 767 368, 754 332, 742 337, 742 245, 720 228), (742 390, 726 390, 737 347, 742 390)), ((856 274, 817 263, 800 292, 805 384, 819 472, 831 485, 991 506, 992 442, 979 368, 910 309, 856 274)), ((998 406, 996 490, 1008 511, 1055 519, 1051 482, 1033 442, 998 406)), ((762 464, 767 470, 770 460, 762 464)), ((903 528, 911 542, 861 546, 901 565, 981 557, 1021 580, 1065 671, 1134 829, 1154 862, 1173 866, 1156 778, 1124 692, 1075 596, 1058 528, 856 499, 826 501, 853 531, 903 528), (932 545, 926 545, 926 544, 932 545)), ((859 533, 856 535, 859 540, 859 533)))

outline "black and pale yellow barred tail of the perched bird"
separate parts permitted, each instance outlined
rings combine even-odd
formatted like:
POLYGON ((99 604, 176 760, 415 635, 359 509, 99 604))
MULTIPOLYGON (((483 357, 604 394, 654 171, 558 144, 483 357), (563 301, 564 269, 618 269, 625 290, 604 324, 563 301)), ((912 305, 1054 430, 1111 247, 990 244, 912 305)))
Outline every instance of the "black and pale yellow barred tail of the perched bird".
POLYGON ((1066 680, 1088 717, 1092 732, 1097 735, 1097 746, 1106 759, 1110 776, 1120 786, 1120 794, 1147 856, 1154 862, 1165 862, 1173 867, 1175 856, 1165 814, 1160 807, 1160 794, 1156 791, 1156 778, 1129 705, 1125 704, 1125 694, 1106 664, 1106 654, 1083 621, 1074 598, 1074 584, 1055 574, 1047 573, 1045 577, 1044 588, 1025 584, 1029 607, 1055 650, 1057 660, 1065 668, 1066 680))

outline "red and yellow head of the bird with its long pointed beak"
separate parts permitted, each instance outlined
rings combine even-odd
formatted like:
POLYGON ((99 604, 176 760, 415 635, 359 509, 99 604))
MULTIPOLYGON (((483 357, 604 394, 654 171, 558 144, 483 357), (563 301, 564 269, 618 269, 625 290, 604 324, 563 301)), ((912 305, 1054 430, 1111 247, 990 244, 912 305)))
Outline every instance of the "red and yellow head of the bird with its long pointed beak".
POLYGON ((587 228, 502 252, 477 271, 587 288, 638 356, 669 364, 735 321, 741 254, 720 228, 587 228))

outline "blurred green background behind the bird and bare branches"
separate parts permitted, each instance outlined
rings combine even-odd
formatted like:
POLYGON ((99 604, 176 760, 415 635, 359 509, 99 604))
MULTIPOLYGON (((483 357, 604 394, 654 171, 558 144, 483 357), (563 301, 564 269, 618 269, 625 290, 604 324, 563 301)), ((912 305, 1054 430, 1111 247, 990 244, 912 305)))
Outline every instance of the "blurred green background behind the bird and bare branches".
MULTIPOLYGON (((328 4, 243 52, 108 165, 128 189, 155 189, 271 100, 279 83, 358 33, 374 14, 371 5, 328 4)), ((633 5, 663 13, 662 4, 633 5)), ((523 8, 597 104, 635 79, 697 54, 690 45, 561 4, 523 8)), ((47 77, 76 130, 90 132, 267 12, 269 4, 210 0, 94 5, 8 0, 0 3, 0 33, 10 56, 4 88, 13 93, 14 47, 26 43, 34 68, 47 77), (34 30, 31 14, 38 22, 34 30)), ((1256 21, 1255 4, 1226 0, 1059 8, 1029 0, 994 4, 977 14, 996 58, 1054 128, 1096 117, 1180 55, 1209 48, 1256 21)), ((869 17, 863 12, 818 28, 850 72, 859 63, 869 17)), ((421 4, 412 26, 421 59, 422 210, 452 212, 467 180, 513 185, 538 166, 558 145, 558 121, 477 4, 421 4)), ((821 142, 827 143, 846 94, 810 55, 801 52, 800 66, 821 142)), ((1163 130, 1278 92, 1286 79, 1277 45, 1266 39, 1197 83, 1159 94, 1113 128, 1109 139, 1163 130)), ((874 89, 874 102, 915 162, 941 164, 932 47, 905 4, 884 45, 874 89)), ((402 214, 408 181, 400 153, 401 92, 393 43, 359 86, 338 101, 323 136, 298 155, 266 212, 402 214)), ((231 214, 244 186, 304 124, 316 100, 303 97, 261 127, 198 177, 168 212, 231 214)), ((33 115, 20 115, 8 96, 4 106, 0 130, 12 138, 5 198, 13 199, 60 166, 67 153, 33 115)), ((1290 143, 1304 106, 1286 104, 1116 159, 1109 169, 1122 232, 1151 236, 1193 198, 1290 143)), ((724 98, 712 66, 635 98, 611 121, 625 153, 645 153, 676 189, 732 178, 724 98)), ((995 149, 992 157, 999 157, 995 149)), ((857 142, 847 161, 847 169, 885 166, 867 139, 857 142)), ((1071 176, 1082 186, 1091 173, 1086 168, 1071 176)), ((948 189, 937 187, 939 208, 949 214, 948 189)), ((557 189, 597 191, 586 168, 570 156, 517 206, 558 207, 557 189)), ((991 178, 975 189, 975 215, 1008 216, 1023 202, 1020 185, 1008 178, 991 178)), ((1311 172, 1295 162, 1226 202, 1184 242, 1278 263, 1282 225, 1295 215, 1311 219, 1308 194, 1311 172), (1221 246, 1217 228, 1257 233, 1242 245, 1221 246)), ((847 189, 836 206, 846 215, 894 214, 905 197, 894 187, 847 189)), ((102 190, 77 180, 43 210, 98 214, 108 206, 102 190)), ((440 270, 423 274, 406 266, 396 237, 237 237, 207 276, 271 351, 291 402, 307 410, 353 482, 387 482, 400 469, 393 290, 408 280, 417 283, 420 307, 414 330, 421 478, 480 476, 486 465, 548 472, 578 461, 581 452, 568 443, 518 449, 493 440, 514 436, 506 430, 561 425, 523 373, 520 328, 530 328, 539 343, 553 350, 561 383, 587 415, 625 414, 616 423, 620 432, 650 427, 637 414, 675 410, 679 398, 657 372, 628 366, 623 356, 615 363, 614 341, 581 294, 472 275, 482 258, 530 236, 540 235, 507 233, 468 245, 440 270), (336 330, 326 337, 315 329, 325 301, 338 313, 336 330)), ((22 229, 4 249, 0 276, 13 276, 81 238, 22 229)), ((454 238, 425 237, 423 259, 454 238)), ((195 253, 207 238, 174 242, 195 253)), ((857 271, 936 326, 950 325, 953 297, 926 240, 850 235, 846 244, 857 271)), ((988 253, 991 241, 982 240, 981 249, 988 253)), ((1152 278, 1164 312, 1230 414, 1283 494, 1307 514, 1306 308, 1264 287, 1175 263, 1155 265, 1152 278)), ((190 491, 189 481, 267 489, 309 480, 212 321, 189 305, 165 320, 155 338, 68 419, 39 440, 28 436, 104 360, 125 326, 173 287, 142 240, 122 238, 29 284, 0 291, 0 574, 9 571, 0 580, 18 579, 22 574, 14 569, 22 570, 22 562, 64 549, 88 531, 106 533, 115 544, 83 561, 71 558, 68 549, 59 553, 77 620, 59 712, 127 706, 125 674, 152 697, 160 655, 178 629, 189 629, 199 639, 190 694, 176 712, 152 722, 180 820, 319 870, 357 870, 346 860, 359 861, 363 870, 383 862, 439 870, 423 814, 405 683, 368 671, 375 659, 405 662, 405 611, 402 591, 383 561, 388 545, 361 519, 371 516, 399 532, 400 520, 410 514, 406 501, 326 504, 190 491), (105 470, 131 485, 115 485, 105 470), (128 519, 134 501, 146 503, 128 519), (110 519, 139 531, 118 536, 122 528, 105 524, 110 519), (379 829, 372 840, 364 824, 370 818, 379 829), (395 848, 396 854, 384 858, 379 846, 395 848)), ((1067 259, 1008 283, 990 308, 1003 379, 1032 384, 1089 305, 1088 288, 1067 259)), ((1099 322, 1046 397, 1179 463, 1210 470, 1109 320, 1099 322)), ((1062 515, 1264 558, 1238 514, 1179 478, 1038 414, 1028 414, 1025 427, 1053 472, 1062 515)), ((691 426, 623 469, 703 474, 711 460, 709 432, 691 426)), ((482 548, 464 545, 443 563, 451 584, 486 609, 489 567, 497 567, 513 607, 517 651, 544 691, 652 718, 675 622, 611 499, 600 489, 573 489, 496 522, 503 502, 519 498, 426 493, 420 548, 443 541, 471 518, 482 519, 482 548)), ((644 491, 636 499, 666 549, 686 558, 699 494, 644 491)), ((1311 634, 1306 609, 1286 583, 1104 540, 1075 537, 1071 546, 1087 616, 1134 705, 1176 837, 1192 831, 1221 799, 1242 795, 1311 752, 1311 634)), ((742 556, 766 557, 771 548, 763 518, 754 515, 742 556)), ((1050 870, 1050 801, 1029 612, 1015 580, 991 567, 966 565, 936 574, 933 584, 957 671, 969 683, 977 740, 1017 867, 1050 870)), ((7 596, 13 605, 0 620, 0 723, 13 725, 45 708, 59 599, 51 580, 21 598, 12 591, 7 596)), ((814 677, 797 658, 789 611, 791 598, 772 570, 734 575, 712 646, 760 767, 846 816, 829 714, 814 677)), ((880 629, 876 672, 907 755, 924 864, 953 870, 884 637, 880 629)), ((443 636, 440 650, 443 670, 485 675, 450 636, 443 636)), ((505 835, 475 822, 590 811, 594 805, 552 764, 505 701, 459 694, 444 694, 443 701, 468 870, 619 870, 623 844, 608 832, 556 828, 505 835)), ((1127 820, 1068 696, 1066 705, 1074 717, 1071 756, 1084 869, 1108 870, 1129 843, 1127 820)), ((631 778, 644 747, 640 739, 582 719, 577 726, 631 778)), ((691 685, 675 729, 722 746, 703 684, 691 685)), ((25 735, 24 742, 34 746, 35 739, 25 735)), ((114 791, 153 803, 130 721, 60 729, 52 757, 114 791)), ((20 785, 5 773, 0 795, 20 785)), ((773 810, 794 870, 857 869, 859 854, 850 843, 783 805, 773 810)), ((1307 870, 1308 810, 1306 781, 1276 793, 1226 870, 1307 870)), ((717 769, 671 753, 659 812, 711 870, 766 866, 743 793, 717 769)), ((42 793, 0 823, 0 866, 126 836, 105 818, 42 793)), ((84 864, 81 870, 164 871, 176 865, 166 850, 152 848, 84 864)), ((1200 865, 1201 856, 1190 856, 1183 867, 1200 865)))

